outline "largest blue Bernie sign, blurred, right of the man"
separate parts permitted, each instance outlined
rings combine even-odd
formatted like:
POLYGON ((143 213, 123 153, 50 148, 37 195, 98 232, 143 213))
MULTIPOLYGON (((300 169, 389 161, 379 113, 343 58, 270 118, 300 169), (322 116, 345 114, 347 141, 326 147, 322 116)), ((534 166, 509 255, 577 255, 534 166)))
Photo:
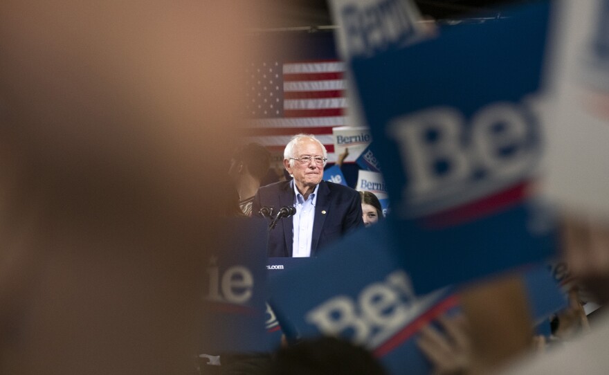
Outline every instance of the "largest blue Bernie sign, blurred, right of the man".
POLYGON ((549 8, 352 60, 398 255, 419 293, 554 250, 552 215, 530 194, 549 8))

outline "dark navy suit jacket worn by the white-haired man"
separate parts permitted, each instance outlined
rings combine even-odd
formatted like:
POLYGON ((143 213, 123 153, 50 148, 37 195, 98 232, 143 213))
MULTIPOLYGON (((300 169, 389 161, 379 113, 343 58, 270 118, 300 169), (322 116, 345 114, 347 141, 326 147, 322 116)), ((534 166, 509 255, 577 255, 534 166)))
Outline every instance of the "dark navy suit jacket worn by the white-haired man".
MULTIPOLYGON (((278 212, 283 206, 294 205, 292 180, 280 181, 260 187, 252 205, 252 214, 258 214, 262 207, 272 207, 278 212)), ((350 187, 321 181, 317 190, 313 236, 311 237, 311 257, 318 250, 345 233, 363 227, 361 199, 359 193, 350 187)), ((292 217, 280 219, 269 232, 267 255, 269 257, 291 257, 293 242, 292 217)))

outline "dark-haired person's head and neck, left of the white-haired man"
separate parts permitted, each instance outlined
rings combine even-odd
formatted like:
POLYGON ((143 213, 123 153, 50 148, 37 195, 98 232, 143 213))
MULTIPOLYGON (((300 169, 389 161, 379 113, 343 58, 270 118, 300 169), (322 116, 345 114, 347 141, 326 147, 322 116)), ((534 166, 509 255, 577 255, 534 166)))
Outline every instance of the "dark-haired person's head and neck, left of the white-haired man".
POLYGON ((228 175, 239 193, 239 207, 252 216, 252 202, 261 181, 269 173, 271 153, 264 146, 248 143, 238 147, 230 161, 228 175))

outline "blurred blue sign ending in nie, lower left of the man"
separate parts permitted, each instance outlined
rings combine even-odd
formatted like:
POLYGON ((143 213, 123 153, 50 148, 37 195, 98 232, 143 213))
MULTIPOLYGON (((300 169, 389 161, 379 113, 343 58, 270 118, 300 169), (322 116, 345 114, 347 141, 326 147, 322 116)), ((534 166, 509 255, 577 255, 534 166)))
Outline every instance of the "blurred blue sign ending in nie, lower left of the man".
POLYGON ((204 270, 199 351, 267 351, 266 223, 233 218, 224 220, 224 228, 204 270))

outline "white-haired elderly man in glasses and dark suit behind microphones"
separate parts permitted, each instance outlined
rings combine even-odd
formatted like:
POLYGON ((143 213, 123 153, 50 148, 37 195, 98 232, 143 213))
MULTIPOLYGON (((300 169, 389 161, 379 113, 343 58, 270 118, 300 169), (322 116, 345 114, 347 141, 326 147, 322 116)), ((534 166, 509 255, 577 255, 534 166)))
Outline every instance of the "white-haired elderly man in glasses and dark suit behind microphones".
POLYGON ((327 151, 314 136, 293 136, 284 151, 284 167, 293 177, 260 187, 253 212, 284 206, 296 214, 280 219, 269 232, 269 257, 311 257, 355 228, 363 227, 358 193, 343 185, 322 181, 327 151))

